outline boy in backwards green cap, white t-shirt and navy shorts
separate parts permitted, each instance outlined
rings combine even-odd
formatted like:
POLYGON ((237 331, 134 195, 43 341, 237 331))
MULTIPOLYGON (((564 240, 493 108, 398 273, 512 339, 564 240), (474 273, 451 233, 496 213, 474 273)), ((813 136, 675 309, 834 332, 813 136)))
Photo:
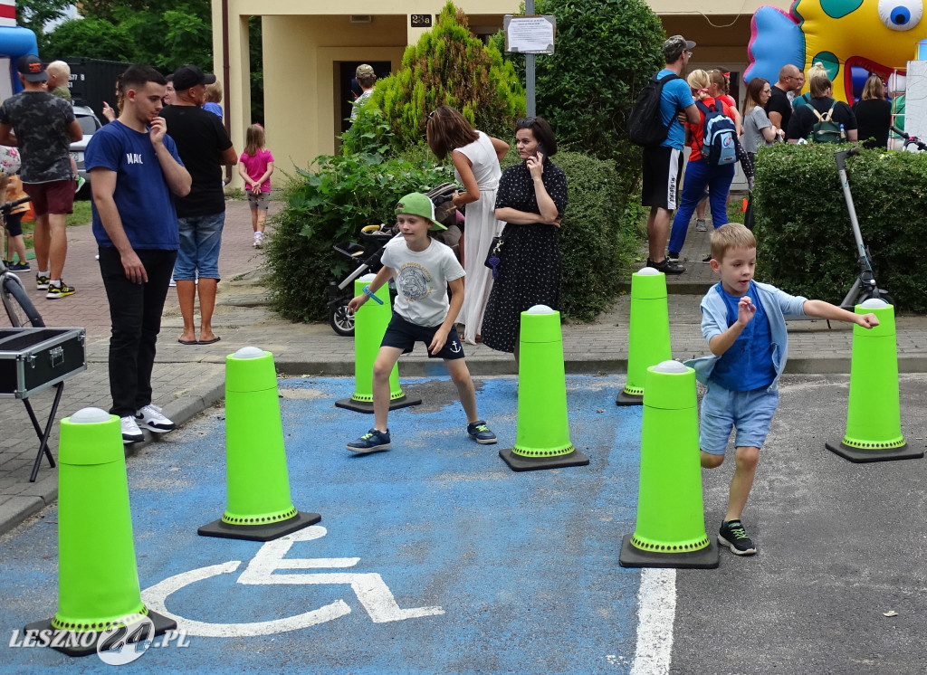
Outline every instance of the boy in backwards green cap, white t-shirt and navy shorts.
MULTIPOLYGON (((401 236, 383 250, 383 268, 366 289, 371 294, 396 279, 396 305, 393 318, 380 343, 374 362, 374 428, 348 444, 352 452, 366 454, 389 449, 389 373, 400 354, 412 352, 416 342, 424 342, 429 358, 443 358, 451 380, 457 386, 467 416, 467 434, 479 444, 493 444, 496 434, 476 415, 476 390, 464 361, 464 347, 454 321, 464 304, 464 268, 451 249, 428 236, 432 230, 446 230, 435 220, 435 206, 425 194, 406 194, 396 205, 396 221, 401 236), (448 285, 451 300, 448 300, 448 285)), ((349 303, 356 312, 367 302, 366 293, 349 303)))

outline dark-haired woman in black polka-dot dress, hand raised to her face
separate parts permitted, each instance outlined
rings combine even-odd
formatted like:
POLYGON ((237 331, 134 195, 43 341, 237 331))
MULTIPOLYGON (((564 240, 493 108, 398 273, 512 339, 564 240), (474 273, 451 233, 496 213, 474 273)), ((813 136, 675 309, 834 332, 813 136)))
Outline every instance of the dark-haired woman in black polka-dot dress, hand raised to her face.
POLYGON ((535 305, 560 306, 560 219, 566 208, 566 175, 550 157, 557 152, 543 118, 518 119, 520 164, 502 172, 496 218, 505 223, 499 278, 483 318, 483 344, 518 360, 521 313, 535 305))

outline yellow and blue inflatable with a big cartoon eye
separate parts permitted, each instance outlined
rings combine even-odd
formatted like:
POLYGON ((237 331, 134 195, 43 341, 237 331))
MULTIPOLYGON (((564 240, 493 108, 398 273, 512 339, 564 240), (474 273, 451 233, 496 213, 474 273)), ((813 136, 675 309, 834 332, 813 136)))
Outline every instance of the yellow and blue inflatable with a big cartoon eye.
POLYGON ((788 14, 762 6, 751 22, 744 80, 775 82, 787 63, 807 71, 821 62, 833 81, 833 97, 852 102, 852 69, 883 79, 905 71, 917 44, 927 39, 922 18, 922 0, 796 0, 788 14))

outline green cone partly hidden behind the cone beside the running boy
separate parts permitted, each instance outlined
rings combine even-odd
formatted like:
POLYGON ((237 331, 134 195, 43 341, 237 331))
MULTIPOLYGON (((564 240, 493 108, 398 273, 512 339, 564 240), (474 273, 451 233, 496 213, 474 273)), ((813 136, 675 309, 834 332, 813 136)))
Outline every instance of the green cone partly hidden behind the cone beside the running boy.
POLYGON ((670 358, 667 275, 643 268, 631 275, 628 381, 616 406, 640 406, 647 369, 670 358))

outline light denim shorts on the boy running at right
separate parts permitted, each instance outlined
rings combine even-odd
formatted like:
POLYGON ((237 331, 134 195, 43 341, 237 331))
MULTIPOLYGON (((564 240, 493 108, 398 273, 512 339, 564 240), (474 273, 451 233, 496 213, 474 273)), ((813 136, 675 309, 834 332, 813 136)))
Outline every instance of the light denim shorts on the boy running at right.
POLYGON ((711 455, 724 455, 730 430, 736 429, 736 447, 763 447, 778 406, 779 390, 768 392, 763 387, 732 392, 708 381, 708 392, 702 399, 699 446, 711 455))

